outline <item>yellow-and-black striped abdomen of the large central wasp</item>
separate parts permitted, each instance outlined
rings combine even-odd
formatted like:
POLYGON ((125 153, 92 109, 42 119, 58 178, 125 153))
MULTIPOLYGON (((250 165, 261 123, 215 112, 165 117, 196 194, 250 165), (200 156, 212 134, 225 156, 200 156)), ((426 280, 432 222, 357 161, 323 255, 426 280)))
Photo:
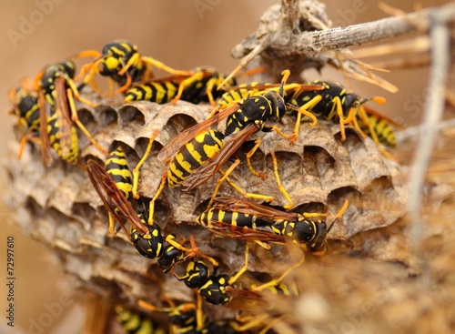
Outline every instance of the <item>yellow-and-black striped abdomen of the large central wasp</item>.
POLYGON ((214 157, 224 145, 223 133, 207 130, 181 147, 167 169, 169 187, 180 186, 197 168, 214 157))

